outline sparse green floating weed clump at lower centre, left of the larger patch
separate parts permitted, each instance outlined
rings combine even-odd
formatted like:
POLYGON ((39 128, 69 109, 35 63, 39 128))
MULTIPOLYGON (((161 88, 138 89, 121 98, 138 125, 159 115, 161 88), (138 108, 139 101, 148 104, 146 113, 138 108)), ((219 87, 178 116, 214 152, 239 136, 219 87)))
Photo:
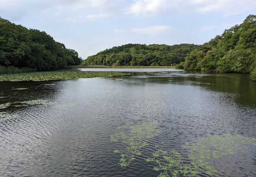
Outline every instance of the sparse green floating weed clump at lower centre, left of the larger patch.
POLYGON ((119 127, 126 132, 114 133, 110 136, 111 142, 121 142, 126 146, 125 149, 115 149, 115 153, 120 153, 121 159, 119 165, 126 167, 135 160, 135 155, 141 155, 140 149, 148 145, 150 138, 157 136, 160 130, 157 129, 157 121, 146 122, 141 125, 125 125, 119 127))

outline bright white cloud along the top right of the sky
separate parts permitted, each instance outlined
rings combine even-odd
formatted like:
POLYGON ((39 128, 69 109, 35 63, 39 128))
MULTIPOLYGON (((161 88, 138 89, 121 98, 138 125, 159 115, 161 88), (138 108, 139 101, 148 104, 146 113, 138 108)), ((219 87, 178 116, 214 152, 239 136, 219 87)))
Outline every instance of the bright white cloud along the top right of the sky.
POLYGON ((170 13, 219 11, 223 16, 256 10, 256 0, 135 0, 126 13, 154 16, 170 13))

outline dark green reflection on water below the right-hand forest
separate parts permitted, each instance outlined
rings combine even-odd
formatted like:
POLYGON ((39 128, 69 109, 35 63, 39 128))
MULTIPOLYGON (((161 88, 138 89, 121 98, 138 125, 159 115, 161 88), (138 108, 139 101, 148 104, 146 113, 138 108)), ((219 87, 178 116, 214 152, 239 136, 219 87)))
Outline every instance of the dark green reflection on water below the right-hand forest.
MULTIPOLYGON (((132 77, 140 80, 133 84, 173 84, 193 85, 215 92, 225 92, 232 96, 238 104, 256 105, 256 81, 249 74, 237 73, 206 73, 198 71, 132 73, 132 77), (141 79, 142 78, 142 79, 141 79)), ((129 77, 127 77, 129 78, 129 77)), ((131 84, 130 82, 124 82, 131 84)))

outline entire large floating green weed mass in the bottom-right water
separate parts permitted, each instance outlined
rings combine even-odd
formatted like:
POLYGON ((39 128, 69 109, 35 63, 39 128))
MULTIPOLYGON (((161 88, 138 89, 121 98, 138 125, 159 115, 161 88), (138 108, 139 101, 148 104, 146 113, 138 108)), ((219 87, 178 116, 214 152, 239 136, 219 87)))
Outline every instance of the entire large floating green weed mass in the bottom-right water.
POLYGON ((249 146, 256 146, 256 138, 223 134, 208 135, 196 142, 187 142, 183 147, 188 150, 190 163, 184 163, 181 154, 176 150, 163 150, 162 145, 156 145, 157 149, 152 157, 145 159, 157 164, 153 170, 162 171, 158 177, 194 177, 202 173, 219 176, 221 172, 212 166, 210 160, 236 153, 247 153, 249 146))

